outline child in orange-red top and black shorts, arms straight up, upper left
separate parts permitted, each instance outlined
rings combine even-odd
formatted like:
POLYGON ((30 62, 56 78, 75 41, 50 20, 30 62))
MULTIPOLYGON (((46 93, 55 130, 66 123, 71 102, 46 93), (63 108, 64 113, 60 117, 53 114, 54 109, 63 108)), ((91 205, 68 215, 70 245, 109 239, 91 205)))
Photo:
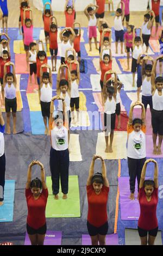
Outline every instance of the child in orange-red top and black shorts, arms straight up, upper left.
POLYGON ((57 71, 58 25, 57 25, 57 19, 54 16, 51 18, 52 18, 52 24, 50 26, 50 31, 49 31, 49 45, 50 45, 49 47, 51 52, 52 71, 57 71))

